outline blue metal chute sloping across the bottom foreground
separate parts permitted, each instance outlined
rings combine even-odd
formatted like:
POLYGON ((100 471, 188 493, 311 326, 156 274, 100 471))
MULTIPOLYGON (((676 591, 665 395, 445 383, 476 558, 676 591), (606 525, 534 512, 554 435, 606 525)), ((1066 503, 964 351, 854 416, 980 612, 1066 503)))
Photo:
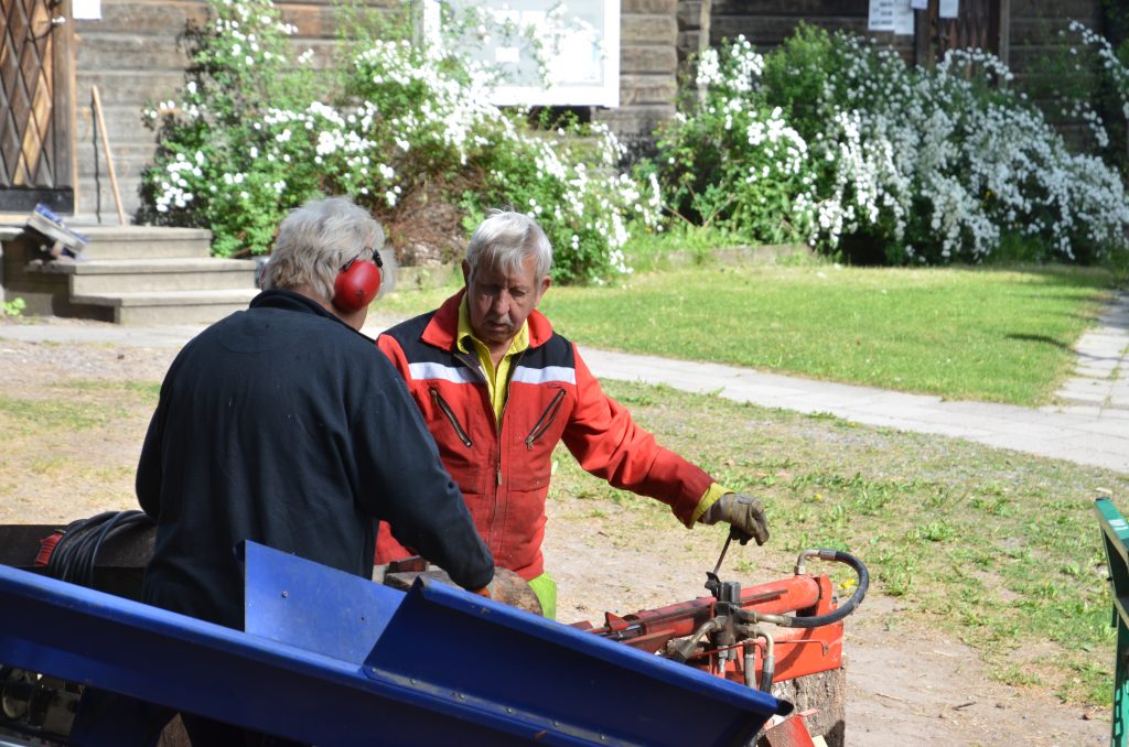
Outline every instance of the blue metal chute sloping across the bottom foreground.
POLYGON ((789 710, 440 583, 246 569, 240 632, 0 566, 0 662, 317 745, 742 744, 789 710))

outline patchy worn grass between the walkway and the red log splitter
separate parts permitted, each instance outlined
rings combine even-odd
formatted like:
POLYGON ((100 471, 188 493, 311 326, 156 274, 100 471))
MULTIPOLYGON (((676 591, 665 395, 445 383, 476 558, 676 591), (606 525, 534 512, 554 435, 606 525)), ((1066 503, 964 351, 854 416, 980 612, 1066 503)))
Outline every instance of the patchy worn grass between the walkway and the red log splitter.
MULTIPOLYGON (((665 387, 604 388, 660 443, 765 501, 771 541, 732 548, 725 580, 762 583, 790 573, 802 550, 846 550, 868 565, 872 595, 896 598, 884 621, 892 636, 955 635, 1001 682, 1110 703, 1115 635, 1093 500, 1109 490, 1129 511, 1129 475, 665 387)), ((665 506, 587 475, 563 448, 555 462, 550 535, 595 518, 601 542, 647 552, 653 537, 683 533, 683 551, 655 572, 712 570, 721 530, 686 531, 665 506)), ((841 568, 808 570, 832 572, 846 598, 854 573, 841 568)))

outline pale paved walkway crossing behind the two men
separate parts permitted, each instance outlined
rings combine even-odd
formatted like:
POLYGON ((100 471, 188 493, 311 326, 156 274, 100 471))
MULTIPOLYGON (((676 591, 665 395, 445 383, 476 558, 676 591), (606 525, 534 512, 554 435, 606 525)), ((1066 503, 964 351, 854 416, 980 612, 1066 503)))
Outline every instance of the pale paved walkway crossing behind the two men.
MULTIPOLYGON (((396 319, 373 316, 375 336, 396 319)), ((26 342, 90 342, 180 348, 201 326, 122 327, 50 318, 0 325, 0 339, 26 342)), ((857 423, 963 438, 1129 474, 1129 296, 1122 295, 1100 325, 1078 342, 1075 376, 1058 392, 1059 403, 1039 410, 762 374, 716 363, 674 361, 581 348, 602 379, 665 384, 737 402, 804 413, 831 413, 857 423)))

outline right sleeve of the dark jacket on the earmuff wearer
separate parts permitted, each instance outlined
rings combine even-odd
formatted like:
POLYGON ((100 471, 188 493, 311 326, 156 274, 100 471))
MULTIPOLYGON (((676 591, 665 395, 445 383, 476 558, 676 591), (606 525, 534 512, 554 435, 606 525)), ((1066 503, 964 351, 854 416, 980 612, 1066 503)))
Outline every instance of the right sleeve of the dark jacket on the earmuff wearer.
POLYGON ((403 380, 375 348, 373 358, 378 375, 352 427, 361 503, 455 583, 481 589, 493 578, 493 556, 403 380))

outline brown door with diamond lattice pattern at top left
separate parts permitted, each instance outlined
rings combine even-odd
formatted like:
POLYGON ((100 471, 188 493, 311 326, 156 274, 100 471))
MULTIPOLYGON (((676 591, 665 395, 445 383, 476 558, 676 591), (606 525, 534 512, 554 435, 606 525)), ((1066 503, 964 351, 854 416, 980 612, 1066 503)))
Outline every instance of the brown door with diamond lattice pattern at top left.
POLYGON ((0 6, 0 211, 73 212, 70 1, 0 6))

